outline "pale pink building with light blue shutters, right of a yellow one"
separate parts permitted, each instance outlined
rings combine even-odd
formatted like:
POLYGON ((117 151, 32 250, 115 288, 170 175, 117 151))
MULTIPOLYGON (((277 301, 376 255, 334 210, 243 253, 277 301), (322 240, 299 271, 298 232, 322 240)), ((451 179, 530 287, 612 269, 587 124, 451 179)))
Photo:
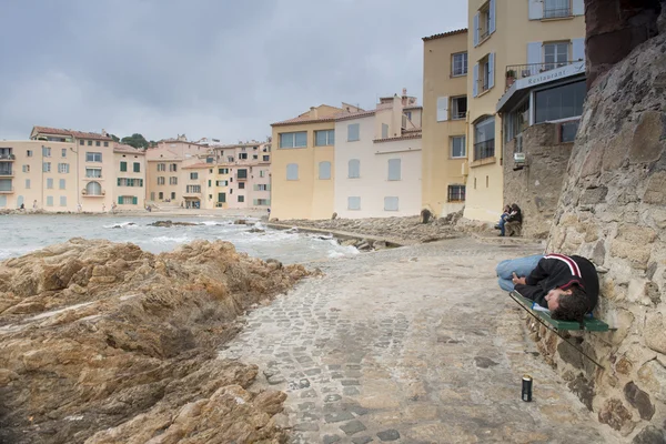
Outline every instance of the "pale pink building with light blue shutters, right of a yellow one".
POLYGON ((421 211, 421 120, 416 98, 381 98, 374 110, 339 115, 334 132, 315 132, 315 145, 334 144, 315 180, 333 179, 333 209, 341 218, 387 218, 421 211), (333 143, 334 142, 334 143, 333 143))

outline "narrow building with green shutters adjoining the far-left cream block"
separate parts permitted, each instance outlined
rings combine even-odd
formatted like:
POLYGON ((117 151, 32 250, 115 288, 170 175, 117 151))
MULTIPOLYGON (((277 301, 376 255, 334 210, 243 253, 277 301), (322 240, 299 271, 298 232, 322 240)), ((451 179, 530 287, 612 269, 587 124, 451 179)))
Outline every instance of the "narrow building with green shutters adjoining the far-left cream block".
POLYGON ((113 143, 114 203, 119 210, 145 208, 145 152, 123 143, 113 143))

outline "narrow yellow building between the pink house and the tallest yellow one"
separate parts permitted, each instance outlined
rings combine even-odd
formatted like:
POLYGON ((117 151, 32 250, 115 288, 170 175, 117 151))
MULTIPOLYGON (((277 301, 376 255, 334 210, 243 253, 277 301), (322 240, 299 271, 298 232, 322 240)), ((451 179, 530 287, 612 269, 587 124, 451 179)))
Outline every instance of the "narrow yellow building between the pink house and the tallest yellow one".
POLYGON ((422 204, 437 215, 465 204, 467 30, 423 38, 422 204))

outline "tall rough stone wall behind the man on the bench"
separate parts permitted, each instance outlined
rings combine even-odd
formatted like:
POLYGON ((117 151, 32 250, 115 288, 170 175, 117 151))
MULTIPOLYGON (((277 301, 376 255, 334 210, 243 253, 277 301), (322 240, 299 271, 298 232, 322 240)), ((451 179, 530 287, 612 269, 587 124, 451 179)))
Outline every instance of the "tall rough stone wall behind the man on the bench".
POLYGON ((634 443, 666 442, 666 28, 659 32, 589 91, 546 248, 599 268, 596 315, 617 330, 569 340, 603 369, 536 333, 569 387, 634 443))

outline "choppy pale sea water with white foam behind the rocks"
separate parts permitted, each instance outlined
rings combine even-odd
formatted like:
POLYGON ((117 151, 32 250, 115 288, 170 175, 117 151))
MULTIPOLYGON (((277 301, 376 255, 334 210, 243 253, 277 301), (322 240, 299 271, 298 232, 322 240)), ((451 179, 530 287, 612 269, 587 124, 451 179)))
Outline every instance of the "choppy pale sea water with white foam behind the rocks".
POLYGON ((353 246, 342 246, 331 235, 273 230, 259 219, 234 224, 234 219, 219 216, 132 216, 88 214, 10 214, 0 215, 0 261, 21 256, 71 238, 105 239, 131 242, 152 253, 172 251, 198 239, 229 241, 238 251, 260 259, 283 263, 307 263, 359 254, 353 246), (189 226, 150 226, 160 220, 191 222, 189 226), (258 230, 263 232, 258 232, 258 230))

